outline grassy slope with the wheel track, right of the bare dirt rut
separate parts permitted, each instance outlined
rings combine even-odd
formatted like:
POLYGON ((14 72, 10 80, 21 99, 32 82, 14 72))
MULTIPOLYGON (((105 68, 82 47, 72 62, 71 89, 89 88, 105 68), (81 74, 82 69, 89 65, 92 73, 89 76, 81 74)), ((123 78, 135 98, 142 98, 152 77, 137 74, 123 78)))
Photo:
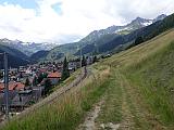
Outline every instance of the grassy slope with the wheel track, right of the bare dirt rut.
POLYGON ((112 66, 114 87, 108 91, 98 127, 113 122, 122 130, 174 129, 174 30, 103 63, 112 66))

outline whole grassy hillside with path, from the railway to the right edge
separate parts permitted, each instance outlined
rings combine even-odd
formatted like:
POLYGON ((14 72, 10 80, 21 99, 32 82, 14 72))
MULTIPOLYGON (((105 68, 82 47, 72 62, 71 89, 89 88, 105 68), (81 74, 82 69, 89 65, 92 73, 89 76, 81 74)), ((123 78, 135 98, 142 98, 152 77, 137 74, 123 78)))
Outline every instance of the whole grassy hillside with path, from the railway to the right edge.
POLYGON ((173 36, 172 29, 100 61, 90 66, 95 75, 80 89, 2 129, 73 130, 82 123, 79 128, 173 130, 173 36), (91 123, 84 120, 87 114, 91 123))

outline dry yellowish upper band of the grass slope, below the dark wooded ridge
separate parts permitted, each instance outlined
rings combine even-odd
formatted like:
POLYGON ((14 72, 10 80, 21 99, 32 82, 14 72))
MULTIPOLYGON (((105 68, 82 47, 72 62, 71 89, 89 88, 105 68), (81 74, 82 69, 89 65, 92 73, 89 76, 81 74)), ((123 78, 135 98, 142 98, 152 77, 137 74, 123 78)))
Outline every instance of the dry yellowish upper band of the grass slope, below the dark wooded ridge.
POLYGON ((171 29, 147 42, 115 54, 107 62, 117 67, 133 65, 167 47, 173 40, 174 29, 171 29))

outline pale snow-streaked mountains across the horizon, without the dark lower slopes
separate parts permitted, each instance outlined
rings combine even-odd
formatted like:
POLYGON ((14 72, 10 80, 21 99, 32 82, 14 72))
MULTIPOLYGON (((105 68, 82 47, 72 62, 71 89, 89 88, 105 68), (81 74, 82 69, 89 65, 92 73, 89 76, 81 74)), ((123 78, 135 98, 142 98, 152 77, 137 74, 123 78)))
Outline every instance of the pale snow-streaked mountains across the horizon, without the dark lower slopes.
MULTIPOLYGON (((32 56, 33 54, 35 55, 35 53, 39 51, 46 51, 46 60, 59 60, 64 55, 74 57, 79 55, 80 48, 84 50, 84 54, 94 52, 96 48, 99 48, 101 50, 101 48, 104 47, 105 43, 112 42, 117 37, 122 39, 122 36, 130 34, 136 29, 144 28, 152 24, 153 22, 161 21, 164 17, 166 17, 165 14, 161 14, 153 20, 146 20, 138 16, 124 26, 113 25, 105 29, 94 30, 88 36, 80 39, 78 42, 73 42, 69 44, 57 46, 55 43, 23 42, 20 40, 9 40, 7 38, 0 39, 0 44, 20 50, 27 56, 32 56), (47 53, 47 51, 49 50, 50 52, 47 53)), ((121 40, 121 42, 123 41, 121 40)), ((39 57, 37 58, 39 60, 39 57)), ((44 58, 42 55, 40 55, 40 58, 44 58)))

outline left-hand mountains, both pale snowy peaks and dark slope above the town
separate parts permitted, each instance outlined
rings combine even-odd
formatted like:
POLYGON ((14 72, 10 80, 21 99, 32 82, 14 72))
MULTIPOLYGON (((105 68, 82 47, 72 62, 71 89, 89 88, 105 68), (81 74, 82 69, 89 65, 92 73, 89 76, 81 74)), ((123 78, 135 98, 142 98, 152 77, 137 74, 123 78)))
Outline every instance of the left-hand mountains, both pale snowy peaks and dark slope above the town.
MULTIPOLYGON (((55 47, 54 43, 22 42, 18 40, 0 39, 0 53, 7 52, 10 67, 18 67, 46 57, 45 52, 55 47), (46 50, 46 51, 45 51, 46 50), (38 57, 39 55, 39 57, 38 57)), ((0 55, 0 68, 3 68, 3 55, 0 55)))

